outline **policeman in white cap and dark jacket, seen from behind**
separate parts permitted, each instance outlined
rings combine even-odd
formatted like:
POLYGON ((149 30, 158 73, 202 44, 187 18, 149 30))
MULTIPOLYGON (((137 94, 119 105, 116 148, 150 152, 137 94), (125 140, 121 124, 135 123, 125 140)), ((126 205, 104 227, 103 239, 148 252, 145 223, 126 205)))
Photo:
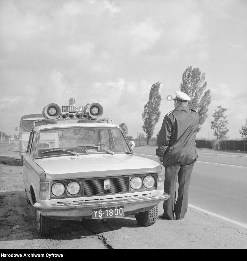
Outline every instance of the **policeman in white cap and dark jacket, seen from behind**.
POLYGON ((164 192, 171 197, 164 201, 162 219, 181 220, 187 212, 190 176, 197 159, 195 138, 199 114, 188 107, 190 96, 176 91, 175 109, 166 114, 159 136, 156 155, 166 169, 164 192), (176 183, 178 177, 178 197, 176 201, 176 183))

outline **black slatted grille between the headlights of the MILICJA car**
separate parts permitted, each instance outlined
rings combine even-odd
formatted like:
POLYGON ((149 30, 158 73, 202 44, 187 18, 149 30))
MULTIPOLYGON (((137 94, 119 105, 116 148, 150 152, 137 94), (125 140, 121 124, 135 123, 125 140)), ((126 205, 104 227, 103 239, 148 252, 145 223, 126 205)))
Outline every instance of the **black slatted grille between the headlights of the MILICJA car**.
POLYGON ((119 194, 129 190, 129 177, 114 177, 104 179, 86 179, 83 185, 83 195, 105 195, 105 194, 119 194), (104 189, 104 180, 110 180, 110 189, 104 189))

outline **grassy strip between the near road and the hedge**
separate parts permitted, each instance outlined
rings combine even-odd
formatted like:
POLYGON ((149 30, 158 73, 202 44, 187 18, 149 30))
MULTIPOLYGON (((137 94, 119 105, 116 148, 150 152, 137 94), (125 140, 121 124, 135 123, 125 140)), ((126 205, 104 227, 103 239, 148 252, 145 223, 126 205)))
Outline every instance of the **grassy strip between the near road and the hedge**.
MULTIPOLYGON (((156 148, 157 147, 140 146, 140 147, 134 147, 134 149, 132 150, 134 153, 156 156, 155 153, 156 148)), ((198 161, 247 167, 246 155, 241 156, 239 155, 239 152, 237 152, 235 156, 232 156, 232 154, 235 153, 234 151, 216 151, 213 149, 200 148, 197 149, 197 152, 198 152, 198 158, 197 158, 198 161), (218 154, 222 154, 222 155, 218 155, 218 154), (225 154, 229 154, 229 155, 225 155, 225 154)), ((242 153, 244 154, 245 152, 242 153)))

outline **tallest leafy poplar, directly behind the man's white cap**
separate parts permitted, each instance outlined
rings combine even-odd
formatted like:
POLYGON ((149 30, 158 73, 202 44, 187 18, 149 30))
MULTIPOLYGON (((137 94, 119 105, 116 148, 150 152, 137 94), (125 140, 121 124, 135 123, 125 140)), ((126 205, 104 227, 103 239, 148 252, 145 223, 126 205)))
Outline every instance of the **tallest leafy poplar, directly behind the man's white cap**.
POLYGON ((201 130, 200 126, 208 117, 208 105, 211 103, 211 91, 206 90, 206 86, 205 73, 201 73, 198 67, 192 69, 192 66, 189 66, 184 71, 180 90, 190 96, 188 106, 195 109, 200 116, 197 132, 201 130))

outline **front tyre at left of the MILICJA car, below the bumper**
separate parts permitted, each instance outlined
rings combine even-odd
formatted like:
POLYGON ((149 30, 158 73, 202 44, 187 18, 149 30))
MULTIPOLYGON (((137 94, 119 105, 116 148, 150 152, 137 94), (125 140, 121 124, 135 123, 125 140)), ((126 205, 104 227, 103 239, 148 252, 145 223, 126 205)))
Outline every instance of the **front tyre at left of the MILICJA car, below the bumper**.
POLYGON ((37 230, 40 236, 50 236, 54 233, 55 220, 44 217, 39 210, 36 210, 37 230))

